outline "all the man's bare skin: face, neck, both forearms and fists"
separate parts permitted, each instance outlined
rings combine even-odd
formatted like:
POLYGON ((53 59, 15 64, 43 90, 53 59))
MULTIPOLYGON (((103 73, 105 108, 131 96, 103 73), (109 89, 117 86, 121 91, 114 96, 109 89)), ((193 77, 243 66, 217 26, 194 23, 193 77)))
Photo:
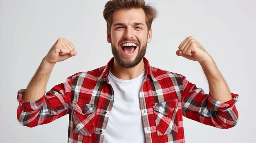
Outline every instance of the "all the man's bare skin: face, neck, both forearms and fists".
MULTIPOLYGON (((143 51, 142 49, 146 48, 146 44, 151 40, 152 29, 148 32, 145 13, 142 9, 123 9, 116 11, 113 14, 111 30, 107 31, 107 41, 111 43, 114 50, 120 53, 121 60, 128 64, 133 62, 138 53, 143 51), (136 25, 134 22, 141 24, 136 25), (122 23, 122 25, 115 25, 117 23, 122 23), (117 29, 117 27, 122 28, 117 29), (136 41, 138 44, 137 51, 131 56, 122 55, 119 48, 120 42, 130 40, 136 41)), ((65 38, 59 38, 43 58, 34 77, 29 82, 22 99, 28 102, 36 101, 43 97, 49 75, 54 65, 57 62, 61 62, 75 55, 76 51, 74 45, 65 38)), ((176 55, 200 63, 204 74, 208 79, 211 97, 222 102, 232 99, 227 83, 222 77, 215 62, 193 36, 186 37, 178 47, 176 55)), ((124 68, 120 66, 114 58, 114 63, 110 67, 110 71, 113 75, 120 79, 134 79, 138 77, 143 70, 144 62, 142 59, 136 66, 132 68, 124 68)))

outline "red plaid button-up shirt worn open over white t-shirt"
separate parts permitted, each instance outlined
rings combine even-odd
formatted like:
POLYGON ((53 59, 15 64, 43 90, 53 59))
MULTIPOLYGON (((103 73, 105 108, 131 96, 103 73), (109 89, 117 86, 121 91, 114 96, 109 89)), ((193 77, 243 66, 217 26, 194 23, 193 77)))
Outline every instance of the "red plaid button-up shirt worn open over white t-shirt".
MULTIPOLYGON (((25 102, 18 91, 17 118, 34 127, 69 114, 68 143, 103 143, 114 92, 108 81, 109 67, 76 73, 54 86, 41 99, 25 102)), ((220 102, 205 94, 186 77, 149 65, 144 57, 145 79, 138 95, 146 143, 184 143, 182 115, 227 129, 236 125, 238 112, 233 99, 220 102)))

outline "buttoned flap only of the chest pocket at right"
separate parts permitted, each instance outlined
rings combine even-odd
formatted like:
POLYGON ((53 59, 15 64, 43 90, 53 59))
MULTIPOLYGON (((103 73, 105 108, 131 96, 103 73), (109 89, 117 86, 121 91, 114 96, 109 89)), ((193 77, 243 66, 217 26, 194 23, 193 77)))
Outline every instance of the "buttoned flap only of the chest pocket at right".
POLYGON ((153 106, 153 109, 157 112, 160 112, 163 115, 168 115, 171 112, 173 112, 173 110, 175 110, 175 108, 177 107, 178 107, 178 99, 175 99, 168 102, 155 103, 153 106))

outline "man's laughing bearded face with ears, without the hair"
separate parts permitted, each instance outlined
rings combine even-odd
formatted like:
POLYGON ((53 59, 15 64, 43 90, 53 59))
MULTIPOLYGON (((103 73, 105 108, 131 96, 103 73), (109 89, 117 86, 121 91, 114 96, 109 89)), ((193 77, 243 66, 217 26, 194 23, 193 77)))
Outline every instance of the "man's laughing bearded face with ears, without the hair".
POLYGON ((119 66, 132 68, 139 64, 151 38, 143 9, 122 9, 113 13, 107 40, 119 66))

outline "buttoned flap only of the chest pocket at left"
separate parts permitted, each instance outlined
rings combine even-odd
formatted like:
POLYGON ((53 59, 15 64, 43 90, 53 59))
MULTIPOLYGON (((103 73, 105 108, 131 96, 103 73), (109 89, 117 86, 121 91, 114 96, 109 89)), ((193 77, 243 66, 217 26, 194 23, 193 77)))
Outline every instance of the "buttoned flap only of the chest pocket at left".
POLYGON ((77 103, 72 101, 72 110, 75 110, 79 114, 87 115, 93 113, 96 110, 96 106, 94 104, 77 103))

